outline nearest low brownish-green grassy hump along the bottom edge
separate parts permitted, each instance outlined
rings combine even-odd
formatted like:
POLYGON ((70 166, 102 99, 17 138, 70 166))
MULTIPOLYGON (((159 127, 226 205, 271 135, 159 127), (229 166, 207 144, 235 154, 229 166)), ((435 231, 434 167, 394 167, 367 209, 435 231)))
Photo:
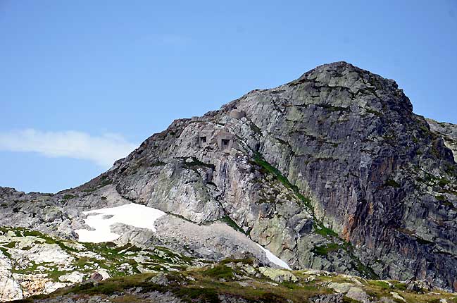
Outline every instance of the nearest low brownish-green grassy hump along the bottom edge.
POLYGON ((457 302, 457 294, 425 282, 366 280, 327 271, 285 271, 258 264, 255 259, 224 259, 185 271, 144 273, 94 279, 38 295, 18 303, 89 302, 457 302))

